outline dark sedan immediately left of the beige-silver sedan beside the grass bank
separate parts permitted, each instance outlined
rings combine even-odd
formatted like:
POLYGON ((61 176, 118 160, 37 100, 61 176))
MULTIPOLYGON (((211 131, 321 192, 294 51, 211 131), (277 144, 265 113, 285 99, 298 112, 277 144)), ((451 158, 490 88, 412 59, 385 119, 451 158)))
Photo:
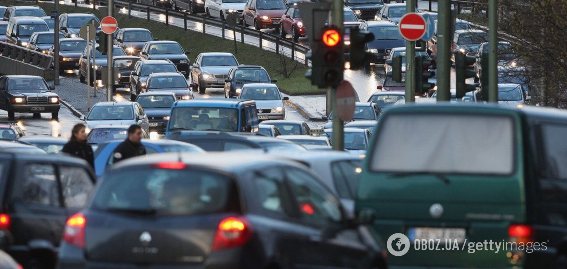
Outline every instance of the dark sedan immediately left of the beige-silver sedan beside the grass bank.
POLYGON ((189 78, 189 50, 183 51, 181 45, 175 41, 149 41, 143 45, 140 52, 142 59, 168 59, 175 64, 177 70, 184 72, 185 78, 189 78))

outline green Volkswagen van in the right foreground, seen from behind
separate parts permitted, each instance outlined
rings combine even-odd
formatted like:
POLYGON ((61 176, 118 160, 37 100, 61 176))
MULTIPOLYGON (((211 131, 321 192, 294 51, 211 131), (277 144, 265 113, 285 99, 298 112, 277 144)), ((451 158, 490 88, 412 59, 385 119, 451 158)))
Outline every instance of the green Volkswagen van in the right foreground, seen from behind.
POLYGON ((390 268, 567 268, 567 112, 391 108, 357 196, 390 268))

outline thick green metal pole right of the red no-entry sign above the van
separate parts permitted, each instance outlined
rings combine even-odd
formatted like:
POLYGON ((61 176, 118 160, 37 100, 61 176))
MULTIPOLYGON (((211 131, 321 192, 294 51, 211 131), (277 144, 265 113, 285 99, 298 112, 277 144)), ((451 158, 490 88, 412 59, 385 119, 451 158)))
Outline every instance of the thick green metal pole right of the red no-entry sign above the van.
POLYGON ((437 101, 451 97, 451 0, 437 2, 437 101))

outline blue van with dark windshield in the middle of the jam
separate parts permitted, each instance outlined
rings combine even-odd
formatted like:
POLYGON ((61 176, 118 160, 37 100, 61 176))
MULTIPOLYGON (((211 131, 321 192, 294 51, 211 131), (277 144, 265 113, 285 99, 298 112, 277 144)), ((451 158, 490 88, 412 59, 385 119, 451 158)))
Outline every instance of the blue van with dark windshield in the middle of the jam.
POLYGON ((240 99, 178 100, 171 109, 166 137, 176 131, 258 131, 256 102, 240 99))

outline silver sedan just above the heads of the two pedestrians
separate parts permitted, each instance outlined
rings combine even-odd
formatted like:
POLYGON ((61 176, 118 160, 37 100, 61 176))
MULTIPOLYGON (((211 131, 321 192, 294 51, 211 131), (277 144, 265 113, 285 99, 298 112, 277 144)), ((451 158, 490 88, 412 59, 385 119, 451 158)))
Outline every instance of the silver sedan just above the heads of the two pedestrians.
POLYGON ((142 106, 136 102, 99 102, 92 106, 87 117, 81 117, 92 130, 98 125, 133 125, 137 124, 146 133, 150 127, 142 106))

